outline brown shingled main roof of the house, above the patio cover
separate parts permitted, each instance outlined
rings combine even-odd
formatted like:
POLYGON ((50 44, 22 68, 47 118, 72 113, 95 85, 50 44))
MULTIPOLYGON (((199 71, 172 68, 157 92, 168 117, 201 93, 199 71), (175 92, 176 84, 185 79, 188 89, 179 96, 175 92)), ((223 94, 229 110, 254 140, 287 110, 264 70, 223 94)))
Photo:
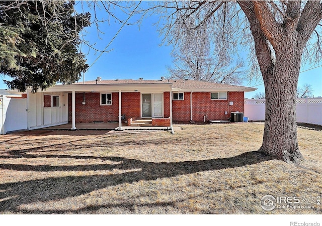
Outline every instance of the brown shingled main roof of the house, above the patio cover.
POLYGON ((191 79, 165 79, 165 80, 133 80, 133 79, 116 79, 116 80, 101 80, 101 81, 85 81, 74 83, 75 85, 130 85, 130 84, 172 84, 174 91, 254 91, 256 88, 228 85, 205 81, 196 81, 191 79))

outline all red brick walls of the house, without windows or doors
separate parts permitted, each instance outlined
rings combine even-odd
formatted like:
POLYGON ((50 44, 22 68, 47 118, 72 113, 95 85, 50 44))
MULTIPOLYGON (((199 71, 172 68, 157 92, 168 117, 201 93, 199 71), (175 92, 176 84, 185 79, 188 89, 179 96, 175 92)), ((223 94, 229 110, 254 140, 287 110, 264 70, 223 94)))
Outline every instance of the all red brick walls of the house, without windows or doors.
MULTIPOLYGON (((118 121, 118 92, 112 93, 112 105, 100 105, 100 93, 85 93, 86 104, 83 105, 83 93, 75 93, 75 122, 92 123, 94 121, 118 121)), ((139 92, 122 93, 122 115, 126 119, 138 118, 141 114, 141 94, 139 92)), ((51 104, 51 99, 50 99, 51 104)), ((228 92, 227 100, 211 100, 210 92, 192 93, 192 119, 203 122, 208 120, 227 120, 230 112, 244 112, 244 92, 228 92), (233 105, 229 106, 229 101, 233 105), (224 112, 227 111, 227 115, 224 112)), ((173 100, 173 120, 188 122, 190 120, 190 92, 184 93, 184 100, 173 100)), ((164 92, 164 118, 170 117, 170 92, 164 92)), ((68 120, 71 122, 71 93, 68 94, 68 120)))

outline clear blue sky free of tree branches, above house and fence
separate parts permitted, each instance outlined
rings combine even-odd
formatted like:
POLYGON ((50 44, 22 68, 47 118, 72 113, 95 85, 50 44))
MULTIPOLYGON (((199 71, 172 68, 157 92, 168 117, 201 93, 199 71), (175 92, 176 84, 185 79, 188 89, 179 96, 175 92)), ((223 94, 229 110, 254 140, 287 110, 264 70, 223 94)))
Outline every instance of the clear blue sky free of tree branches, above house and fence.
MULTIPOLYGON (((80 7, 78 5, 77 7, 80 7)), ((80 8, 78 8, 80 9, 80 8)), ((106 15, 103 12, 99 16, 106 15)), ((105 17, 106 18, 106 17, 105 17)), ((87 63, 92 65, 85 73, 85 80, 95 80, 98 76, 102 79, 159 79, 168 74, 167 66, 172 65, 170 53, 172 46, 162 44, 162 37, 159 36, 157 27, 153 24, 158 21, 158 16, 145 18, 140 25, 124 26, 117 37, 113 40, 107 50, 108 53, 95 53, 93 49, 82 46, 82 51, 87 55, 87 63)), ((121 24, 111 21, 110 24, 100 24, 100 30, 104 34, 97 33, 95 26, 86 29, 85 39, 91 44, 96 43, 95 48, 103 50, 112 40, 121 24)), ((322 65, 322 64, 320 64, 322 65)), ((305 65, 301 71, 319 65, 305 65)), ((8 79, 8 77, 5 77, 8 79)), ((83 81, 83 78, 80 80, 83 81)), ((258 88, 254 92, 245 93, 245 97, 252 98, 256 92, 264 92, 263 81, 250 81, 245 79, 245 86, 258 88)), ((308 83, 312 85, 314 96, 322 96, 322 67, 308 70, 300 73, 298 84, 302 86, 308 83)), ((0 88, 7 88, 0 82, 0 88)))

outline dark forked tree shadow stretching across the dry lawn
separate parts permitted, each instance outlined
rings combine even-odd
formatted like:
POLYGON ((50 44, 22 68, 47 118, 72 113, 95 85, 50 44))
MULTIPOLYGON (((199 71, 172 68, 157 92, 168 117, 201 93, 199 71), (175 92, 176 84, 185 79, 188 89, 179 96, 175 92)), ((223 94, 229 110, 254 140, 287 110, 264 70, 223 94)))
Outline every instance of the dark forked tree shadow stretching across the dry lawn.
MULTIPOLYGON (((56 158, 60 156, 57 155, 56 158)), ((64 156, 63 158, 76 156, 64 156)), ((87 165, 87 166, 30 166, 1 164, 0 167, 11 170, 33 170, 33 171, 64 171, 64 170, 133 170, 121 174, 92 175, 92 176, 67 176, 51 177, 40 180, 30 180, 16 183, 0 184, 0 211, 19 211, 18 206, 38 201, 58 200, 66 197, 75 197, 87 194, 91 191, 106 188, 123 183, 132 183, 140 180, 156 180, 178 175, 191 174, 209 170, 220 170, 235 168, 245 165, 257 164, 274 159, 257 151, 246 152, 230 158, 209 159, 185 162, 144 162, 135 159, 120 157, 94 157, 77 156, 76 158, 98 158, 121 162, 120 164, 87 165)), ((126 205, 126 203, 124 203, 126 205)), ((168 203, 170 204, 170 203, 168 203)), ((94 206, 89 207, 94 208, 94 206)), ((81 211, 81 210, 78 210, 81 211)), ((24 212, 24 213, 63 213, 68 210, 52 210, 51 212, 24 212)), ((77 211, 75 211, 77 212, 77 211)))

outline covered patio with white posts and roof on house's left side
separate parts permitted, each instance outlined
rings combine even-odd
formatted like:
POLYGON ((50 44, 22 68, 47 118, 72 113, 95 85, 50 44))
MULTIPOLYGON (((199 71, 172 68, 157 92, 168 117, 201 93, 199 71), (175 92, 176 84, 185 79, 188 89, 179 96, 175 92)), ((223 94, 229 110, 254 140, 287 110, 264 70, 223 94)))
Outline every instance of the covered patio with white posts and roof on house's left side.
POLYGON ((167 129, 172 123, 171 90, 169 82, 98 79, 55 85, 36 94, 28 91, 28 129, 167 129), (152 120, 151 125, 141 128, 136 123, 140 118, 152 120))

